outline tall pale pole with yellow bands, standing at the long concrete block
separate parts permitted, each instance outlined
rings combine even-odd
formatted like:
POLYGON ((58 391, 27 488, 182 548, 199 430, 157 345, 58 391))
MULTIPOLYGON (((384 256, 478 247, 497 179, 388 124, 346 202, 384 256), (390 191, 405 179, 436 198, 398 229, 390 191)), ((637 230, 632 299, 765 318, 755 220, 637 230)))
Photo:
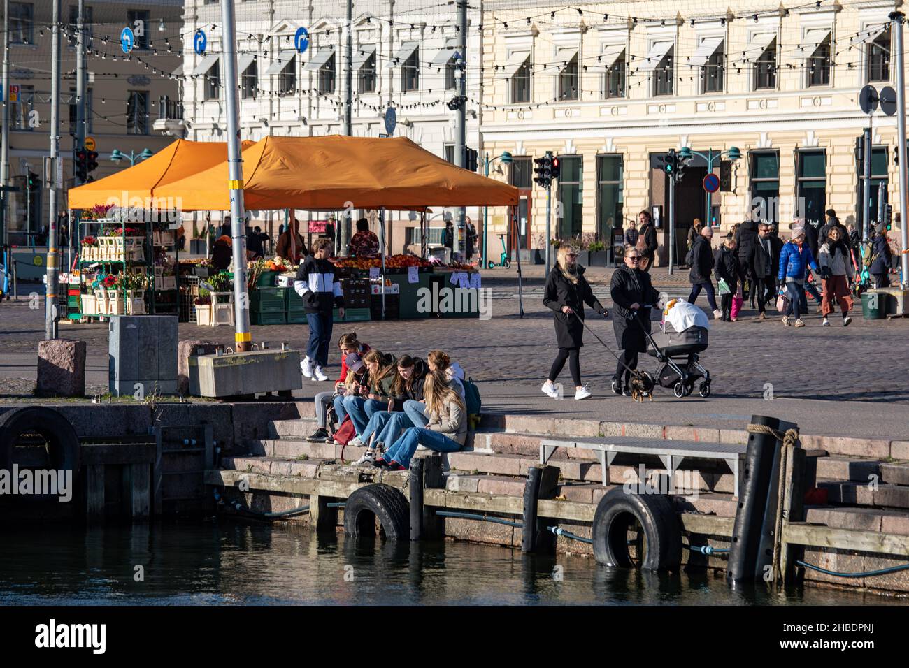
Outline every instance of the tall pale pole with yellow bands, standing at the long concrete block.
MULTIPOLYGON (((243 202, 243 158, 240 154, 240 105, 236 86, 236 25, 234 0, 221 0, 224 34, 222 58, 225 68, 225 105, 227 115, 227 188, 230 191, 231 237, 234 251, 234 322, 237 352, 253 348, 249 331, 249 293, 246 289, 246 212, 243 202)), ((293 234, 293 230, 291 231, 293 234)))

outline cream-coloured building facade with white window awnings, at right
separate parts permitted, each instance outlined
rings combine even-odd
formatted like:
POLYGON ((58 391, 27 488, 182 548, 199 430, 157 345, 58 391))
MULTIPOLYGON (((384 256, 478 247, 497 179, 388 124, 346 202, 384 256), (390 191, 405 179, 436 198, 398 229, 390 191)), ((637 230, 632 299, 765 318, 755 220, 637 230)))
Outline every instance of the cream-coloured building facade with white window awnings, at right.
MULTIPOLYGON (((515 158, 499 176, 522 188, 513 246, 545 244, 545 191, 533 184, 532 162, 545 151, 562 157, 551 236, 608 247, 620 238, 614 230, 655 207, 661 264, 668 179, 658 165, 669 149, 741 152, 713 161, 725 192, 713 195, 710 217, 721 230, 753 214, 784 230, 796 215, 823 223, 828 208, 845 224, 859 217, 856 140, 869 123, 859 92, 894 85, 896 7, 799 5, 486 2, 480 132, 484 153, 515 158)), ((878 194, 898 211, 899 180, 895 116, 879 109, 872 123, 876 218, 878 194)), ((706 174, 695 158, 676 188, 676 258, 694 218, 707 217, 706 174)), ((491 214, 489 238, 507 221, 491 214)))

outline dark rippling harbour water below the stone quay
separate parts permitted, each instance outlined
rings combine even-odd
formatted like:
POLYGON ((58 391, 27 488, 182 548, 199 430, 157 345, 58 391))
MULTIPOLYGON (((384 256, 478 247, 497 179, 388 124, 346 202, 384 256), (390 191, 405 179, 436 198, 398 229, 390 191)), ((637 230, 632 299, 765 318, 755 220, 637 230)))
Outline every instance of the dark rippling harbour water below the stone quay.
POLYGON ((473 543, 382 543, 230 522, 0 528, 0 604, 886 604, 805 588, 732 592, 713 573, 613 570, 473 543), (145 582, 135 582, 135 566, 145 582), (558 568, 557 568, 558 567, 558 568), (554 578, 561 575, 561 581, 554 578))

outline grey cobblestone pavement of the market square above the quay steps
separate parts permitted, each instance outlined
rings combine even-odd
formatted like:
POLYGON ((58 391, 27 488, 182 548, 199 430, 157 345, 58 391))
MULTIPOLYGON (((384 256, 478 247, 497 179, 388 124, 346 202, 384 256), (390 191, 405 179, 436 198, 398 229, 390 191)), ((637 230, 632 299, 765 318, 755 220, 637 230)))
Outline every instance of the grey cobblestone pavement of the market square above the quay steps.
MULTIPOLYGON (((339 323, 335 324, 335 341, 340 334, 355 330, 361 340, 385 352, 425 354, 430 349, 441 348, 481 382, 484 397, 495 397, 501 408, 516 410, 523 407, 531 411, 551 412, 557 405, 559 413, 588 414, 604 410, 611 413, 621 404, 624 414, 629 400, 608 394, 609 379, 615 368, 614 357, 589 333, 584 336, 585 346, 581 353, 584 383, 590 383, 594 397, 604 399, 602 406, 607 408, 594 408, 594 405, 582 408, 578 404, 587 402, 574 401, 554 405, 544 397, 539 386, 548 373, 555 348, 552 314, 544 308, 541 299, 542 274, 524 283, 524 318, 519 317, 518 300, 512 296, 517 292, 517 284, 511 276, 486 276, 488 274, 484 275, 484 285, 493 296, 490 320, 339 323)), ((656 283, 672 296, 687 296, 686 283, 670 283, 665 278, 668 277, 661 279, 657 276, 656 283)), ((605 276, 603 280, 606 280, 605 276)), ((594 293, 599 295, 607 308, 610 307, 608 289, 601 280, 594 280, 594 293)), ((700 301, 703 302, 704 297, 700 301)), ((701 305, 705 307, 706 304, 701 305)), ((43 318, 43 311, 31 311, 25 302, 0 305, 0 398, 31 392, 35 378, 36 342, 44 336, 43 318)), ((811 410, 818 414, 835 415, 844 411, 844 405, 832 404, 830 400, 886 404, 850 404, 848 410, 860 410, 863 420, 874 419, 872 415, 878 409, 886 408, 891 416, 891 409, 899 408, 901 414, 904 412, 905 404, 909 402, 909 321, 864 321, 859 310, 853 324, 846 328, 839 323, 838 317, 834 317, 834 326, 821 327, 820 315, 814 313, 806 322, 807 326, 801 329, 784 327, 775 315, 767 321, 758 322, 749 309, 744 310, 744 315, 736 323, 711 321, 711 344, 702 355, 702 363, 714 378, 711 399, 704 401, 694 396, 675 400, 671 390, 657 388, 654 393, 656 401, 649 406, 645 404, 647 408, 635 410, 638 413, 655 411, 667 417, 674 416, 672 421, 664 424, 740 423, 740 418, 746 414, 766 410, 766 404, 762 402, 757 407, 751 401, 747 407, 744 407, 745 404, 723 404, 726 406, 723 410, 718 406, 730 400, 760 400, 772 390, 777 399, 824 400, 819 403, 824 404, 823 410, 812 404, 815 407, 811 410)), ((614 349, 611 322, 588 314, 588 324, 614 349)), ((89 350, 87 383, 104 391, 106 325, 61 324, 60 331, 62 337, 86 341, 89 350)), ((305 346, 308 336, 307 327, 297 324, 253 326, 252 332, 254 341, 288 342, 299 347, 305 346)), ((181 324, 180 338, 233 344, 234 335, 227 327, 212 329, 181 324)), ((330 373, 336 372, 336 365, 339 364, 335 350, 333 348, 331 357, 335 368, 330 373)), ((656 366, 653 358, 642 355, 642 368, 654 371, 656 366)), ((571 385, 567 369, 560 380, 571 385)), ((302 394, 313 394, 313 390, 307 386, 302 394)), ((793 408, 794 416, 808 410, 806 404, 791 405, 802 406, 793 408)), ((848 422, 848 416, 843 418, 848 422)), ((648 422, 649 419, 641 414, 635 421, 648 422)))

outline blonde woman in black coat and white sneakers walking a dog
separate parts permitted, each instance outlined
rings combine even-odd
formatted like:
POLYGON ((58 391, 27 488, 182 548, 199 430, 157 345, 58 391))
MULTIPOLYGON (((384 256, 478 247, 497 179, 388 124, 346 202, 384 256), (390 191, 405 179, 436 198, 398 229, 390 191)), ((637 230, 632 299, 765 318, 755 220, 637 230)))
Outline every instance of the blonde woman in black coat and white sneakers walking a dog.
POLYGON ((590 391, 581 384, 581 362, 578 357, 581 346, 584 345, 584 304, 604 317, 609 313, 594 297, 590 284, 584 278, 584 267, 577 264, 577 251, 571 246, 559 248, 555 266, 546 280, 543 304, 554 311, 555 343, 559 346, 559 354, 555 355, 543 391, 554 399, 558 398, 554 380, 562 373, 565 361, 569 360, 574 398, 586 399, 590 396, 590 391))

